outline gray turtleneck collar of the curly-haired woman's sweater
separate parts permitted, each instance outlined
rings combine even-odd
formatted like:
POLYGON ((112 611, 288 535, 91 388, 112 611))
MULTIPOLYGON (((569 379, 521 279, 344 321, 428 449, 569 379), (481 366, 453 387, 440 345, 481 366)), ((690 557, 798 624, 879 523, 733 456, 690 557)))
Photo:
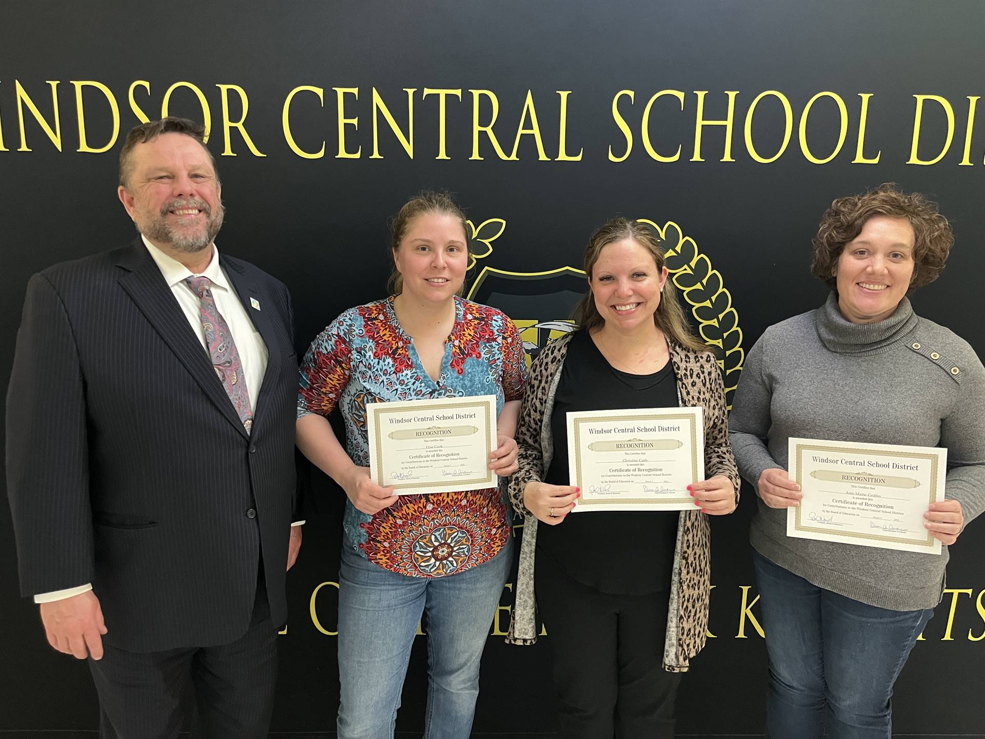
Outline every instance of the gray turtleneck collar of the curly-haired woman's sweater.
POLYGON ((909 336, 919 320, 909 299, 903 298, 885 320, 852 323, 841 314, 834 293, 814 314, 821 343, 837 354, 884 354, 909 336))

